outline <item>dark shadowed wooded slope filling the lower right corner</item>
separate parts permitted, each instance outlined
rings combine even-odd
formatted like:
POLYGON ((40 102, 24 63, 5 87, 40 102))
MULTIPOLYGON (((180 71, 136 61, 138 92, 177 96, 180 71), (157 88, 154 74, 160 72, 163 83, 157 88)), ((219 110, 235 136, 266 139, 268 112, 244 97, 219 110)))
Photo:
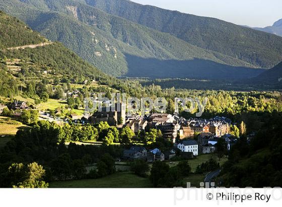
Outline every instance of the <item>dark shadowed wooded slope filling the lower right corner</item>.
POLYGON ((224 187, 277 187, 282 185, 281 113, 264 114, 254 138, 242 136, 229 152, 218 181, 224 187))

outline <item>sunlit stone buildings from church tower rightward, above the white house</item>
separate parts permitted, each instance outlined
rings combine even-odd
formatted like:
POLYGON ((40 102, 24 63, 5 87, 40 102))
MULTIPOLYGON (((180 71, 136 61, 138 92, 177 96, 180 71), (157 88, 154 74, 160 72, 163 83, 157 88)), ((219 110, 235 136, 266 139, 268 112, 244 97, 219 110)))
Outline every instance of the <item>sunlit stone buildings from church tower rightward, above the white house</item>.
MULTIPOLYGON (((116 105, 116 109, 117 109, 116 105)), ((171 114, 150 114, 144 117, 126 117, 126 106, 120 103, 119 111, 107 111, 104 107, 83 121, 96 124, 108 122, 111 126, 128 126, 133 132, 145 131, 146 128, 161 130, 164 138, 175 143, 176 139, 194 138, 195 134, 211 133, 214 136, 224 136, 229 133, 231 120, 225 117, 213 119, 189 119, 179 118, 171 114), (178 137, 179 136, 179 137, 178 137)))

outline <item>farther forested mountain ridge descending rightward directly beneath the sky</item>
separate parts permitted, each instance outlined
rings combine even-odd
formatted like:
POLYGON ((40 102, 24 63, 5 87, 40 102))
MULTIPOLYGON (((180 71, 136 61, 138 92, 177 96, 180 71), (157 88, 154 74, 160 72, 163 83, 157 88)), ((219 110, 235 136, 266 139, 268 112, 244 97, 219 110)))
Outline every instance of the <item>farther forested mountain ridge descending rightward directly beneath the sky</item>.
POLYGON ((282 39, 222 20, 144 6, 127 0, 85 0, 93 7, 170 33, 190 44, 218 51, 262 68, 281 61, 282 39))

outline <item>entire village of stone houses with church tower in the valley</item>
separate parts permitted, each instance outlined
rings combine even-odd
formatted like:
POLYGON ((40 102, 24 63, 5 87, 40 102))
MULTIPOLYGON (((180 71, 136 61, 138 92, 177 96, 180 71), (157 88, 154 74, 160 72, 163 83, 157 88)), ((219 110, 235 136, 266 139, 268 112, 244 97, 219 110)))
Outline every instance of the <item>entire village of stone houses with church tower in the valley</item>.
MULTIPOLYGON (((73 92, 72 96, 76 96, 73 92)), ((77 96, 76 96, 77 97, 77 96)), ((11 106, 12 117, 20 120, 22 111, 31 109, 25 101, 14 101, 11 106)), ((0 114, 7 106, 0 105, 0 114)), ((116 106, 117 108, 117 106, 116 106)), ((132 161, 142 159, 147 162, 171 160, 176 155, 185 159, 191 159, 200 154, 213 153, 217 150, 219 139, 224 139, 227 150, 236 143, 237 137, 230 134, 232 121, 226 117, 214 117, 211 119, 190 118, 184 119, 177 115, 154 113, 144 117, 140 115, 127 116, 126 106, 121 103, 119 111, 107 111, 106 107, 93 115, 69 114, 68 118, 60 118, 61 111, 55 110, 52 114, 47 111, 39 111, 39 120, 56 122, 59 125, 72 122, 74 124, 98 124, 107 122, 119 131, 128 127, 135 134, 156 129, 161 132, 162 138, 173 143, 173 147, 162 151, 159 148, 147 149, 140 143, 132 143, 130 148, 123 151, 121 160, 132 161)), ((97 144, 97 143, 96 143, 97 144)))

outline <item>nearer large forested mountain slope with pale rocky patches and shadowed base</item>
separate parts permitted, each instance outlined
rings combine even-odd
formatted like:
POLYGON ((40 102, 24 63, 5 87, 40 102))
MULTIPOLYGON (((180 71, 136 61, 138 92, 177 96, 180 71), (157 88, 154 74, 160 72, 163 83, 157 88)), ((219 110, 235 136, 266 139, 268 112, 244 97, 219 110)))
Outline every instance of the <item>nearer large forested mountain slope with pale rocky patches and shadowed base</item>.
POLYGON ((0 9, 114 76, 241 79, 262 72, 252 68, 267 68, 281 59, 279 45, 269 57, 252 57, 260 60, 257 64, 110 15, 83 0, 5 0, 0 9))

